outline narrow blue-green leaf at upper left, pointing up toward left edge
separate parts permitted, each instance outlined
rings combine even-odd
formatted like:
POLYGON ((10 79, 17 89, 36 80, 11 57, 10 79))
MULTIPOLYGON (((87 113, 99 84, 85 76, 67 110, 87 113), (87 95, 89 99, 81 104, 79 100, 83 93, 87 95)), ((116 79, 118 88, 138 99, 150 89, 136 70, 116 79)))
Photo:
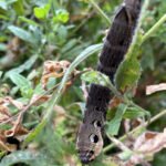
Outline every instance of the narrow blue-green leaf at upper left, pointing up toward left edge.
POLYGON ((30 43, 33 43, 33 44, 37 43, 37 40, 33 38, 32 33, 30 33, 19 27, 15 27, 15 25, 9 25, 8 29, 18 38, 20 38, 24 41, 28 41, 30 43))

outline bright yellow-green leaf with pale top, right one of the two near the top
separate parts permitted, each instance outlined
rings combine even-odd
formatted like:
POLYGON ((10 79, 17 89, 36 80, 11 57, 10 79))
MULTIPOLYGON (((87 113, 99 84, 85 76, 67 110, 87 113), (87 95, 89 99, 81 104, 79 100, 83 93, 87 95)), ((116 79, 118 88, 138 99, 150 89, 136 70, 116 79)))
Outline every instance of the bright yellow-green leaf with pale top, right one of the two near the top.
POLYGON ((55 17, 53 18, 53 21, 66 23, 69 21, 69 17, 70 14, 66 10, 59 9, 55 11, 55 17))

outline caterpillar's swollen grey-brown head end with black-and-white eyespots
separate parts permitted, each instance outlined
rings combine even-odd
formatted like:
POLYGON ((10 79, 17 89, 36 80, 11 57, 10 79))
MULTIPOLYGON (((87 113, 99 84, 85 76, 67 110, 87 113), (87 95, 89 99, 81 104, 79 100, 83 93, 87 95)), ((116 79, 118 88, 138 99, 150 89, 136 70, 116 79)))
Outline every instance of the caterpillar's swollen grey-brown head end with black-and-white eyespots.
POLYGON ((83 164, 92 162, 103 148, 103 115, 98 112, 86 115, 85 118, 87 118, 81 124, 76 141, 76 148, 83 164))

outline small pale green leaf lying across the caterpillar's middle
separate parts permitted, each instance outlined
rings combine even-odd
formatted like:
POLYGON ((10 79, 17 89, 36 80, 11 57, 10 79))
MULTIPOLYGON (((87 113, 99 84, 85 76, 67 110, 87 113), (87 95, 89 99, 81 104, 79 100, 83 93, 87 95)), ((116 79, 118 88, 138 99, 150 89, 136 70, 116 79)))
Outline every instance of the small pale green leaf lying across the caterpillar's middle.
POLYGON ((81 79, 87 83, 96 83, 103 86, 107 86, 107 82, 110 82, 110 79, 97 72, 97 71, 90 71, 81 75, 81 79))

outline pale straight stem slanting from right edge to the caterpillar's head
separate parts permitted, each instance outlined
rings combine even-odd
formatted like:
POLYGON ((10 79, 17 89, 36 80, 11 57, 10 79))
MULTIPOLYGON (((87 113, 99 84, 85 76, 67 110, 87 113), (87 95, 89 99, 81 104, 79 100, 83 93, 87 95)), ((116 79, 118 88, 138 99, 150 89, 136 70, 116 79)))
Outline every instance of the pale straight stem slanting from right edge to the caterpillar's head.
MULTIPOLYGON (((134 128, 134 129, 131 131, 128 134, 125 134, 124 136, 120 137, 118 139, 120 139, 121 142, 125 141, 125 139, 128 137, 128 135, 134 134, 134 133, 136 133, 136 132, 138 132, 138 133, 142 132, 142 129, 144 129, 146 126, 148 126, 149 124, 154 123, 155 121, 157 121, 158 118, 160 118, 160 117, 163 117, 163 116, 165 116, 165 115, 166 115, 166 110, 162 111, 160 113, 158 113, 157 115, 155 115, 154 117, 152 117, 151 121, 149 121, 149 122, 147 121, 144 126, 138 126, 138 127, 134 128)), ((106 147, 103 149, 103 152, 106 153, 107 151, 110 151, 110 149, 113 148, 114 146, 115 146, 114 143, 113 143, 113 144, 110 144, 108 146, 106 146, 106 147)))

